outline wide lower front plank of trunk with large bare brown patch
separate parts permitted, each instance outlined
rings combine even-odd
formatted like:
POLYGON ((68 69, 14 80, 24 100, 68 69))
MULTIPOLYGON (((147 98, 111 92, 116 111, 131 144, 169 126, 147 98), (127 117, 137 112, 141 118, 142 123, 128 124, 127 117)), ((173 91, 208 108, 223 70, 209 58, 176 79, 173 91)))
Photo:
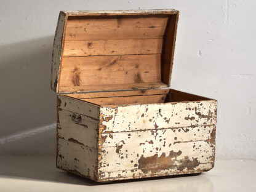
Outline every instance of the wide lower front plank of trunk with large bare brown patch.
POLYGON ((209 138, 215 138, 215 126, 119 132, 101 137, 102 172, 137 169, 143 175, 161 175, 200 170, 200 164, 209 164, 207 168, 211 169, 214 163, 215 143, 209 138))

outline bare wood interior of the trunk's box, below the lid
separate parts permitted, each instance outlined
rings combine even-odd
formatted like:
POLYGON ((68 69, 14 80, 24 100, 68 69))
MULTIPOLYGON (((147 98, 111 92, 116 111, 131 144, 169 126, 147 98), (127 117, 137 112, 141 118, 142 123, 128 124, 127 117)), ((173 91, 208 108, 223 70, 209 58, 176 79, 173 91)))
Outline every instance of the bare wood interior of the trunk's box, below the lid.
POLYGON ((87 94, 68 94, 66 96, 93 103, 99 106, 196 102, 202 100, 210 100, 210 98, 188 94, 174 89, 94 92, 87 94))

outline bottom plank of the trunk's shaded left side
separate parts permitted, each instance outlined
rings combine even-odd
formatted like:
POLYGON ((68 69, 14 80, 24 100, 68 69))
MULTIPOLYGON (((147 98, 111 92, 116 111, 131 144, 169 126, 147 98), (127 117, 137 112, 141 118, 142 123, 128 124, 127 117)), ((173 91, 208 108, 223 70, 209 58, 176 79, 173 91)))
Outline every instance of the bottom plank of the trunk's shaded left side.
POLYGON ((58 138, 58 169, 97 180, 97 158, 97 150, 58 138))

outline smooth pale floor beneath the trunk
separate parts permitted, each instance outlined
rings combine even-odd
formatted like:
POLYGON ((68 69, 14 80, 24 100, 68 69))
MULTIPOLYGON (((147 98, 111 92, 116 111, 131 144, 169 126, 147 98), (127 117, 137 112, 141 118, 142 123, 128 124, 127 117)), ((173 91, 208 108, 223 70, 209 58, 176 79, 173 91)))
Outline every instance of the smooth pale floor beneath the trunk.
POLYGON ((98 184, 55 168, 54 156, 0 156, 0 191, 256 191, 256 161, 216 161, 201 175, 98 184))

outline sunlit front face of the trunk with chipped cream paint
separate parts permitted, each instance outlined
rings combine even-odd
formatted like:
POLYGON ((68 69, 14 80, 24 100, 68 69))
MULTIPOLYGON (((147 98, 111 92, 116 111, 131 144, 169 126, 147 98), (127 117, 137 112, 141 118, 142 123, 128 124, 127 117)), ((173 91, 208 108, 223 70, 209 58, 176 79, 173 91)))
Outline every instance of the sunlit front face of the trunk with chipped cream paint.
POLYGON ((100 108, 99 134, 111 137, 99 146, 99 179, 212 169, 216 118, 216 100, 100 108))

